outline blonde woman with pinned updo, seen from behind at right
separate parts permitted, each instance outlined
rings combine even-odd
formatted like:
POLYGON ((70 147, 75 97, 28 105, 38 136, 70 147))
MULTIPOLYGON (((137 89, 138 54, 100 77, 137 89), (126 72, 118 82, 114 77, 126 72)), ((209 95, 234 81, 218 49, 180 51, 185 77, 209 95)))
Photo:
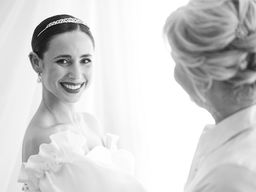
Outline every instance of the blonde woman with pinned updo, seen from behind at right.
POLYGON ((206 125, 185 192, 256 191, 256 1, 191 0, 163 30, 176 81, 206 125))

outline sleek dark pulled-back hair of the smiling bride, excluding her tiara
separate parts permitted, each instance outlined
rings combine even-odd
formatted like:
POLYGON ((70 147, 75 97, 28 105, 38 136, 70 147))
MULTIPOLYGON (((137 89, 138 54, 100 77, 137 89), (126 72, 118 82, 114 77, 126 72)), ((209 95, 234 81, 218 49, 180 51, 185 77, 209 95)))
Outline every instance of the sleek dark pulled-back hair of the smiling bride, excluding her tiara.
MULTIPOLYGON (((94 43, 94 38, 92 36, 92 33, 90 32, 90 29, 85 26, 84 24, 77 24, 77 23, 62 23, 62 24, 56 24, 53 26, 50 26, 46 30, 46 26, 50 24, 51 22, 60 20, 60 19, 65 19, 65 18, 75 18, 71 15, 55 15, 52 17, 49 17, 45 20, 43 20, 34 30, 33 36, 32 36, 32 41, 31 41, 31 46, 33 52, 35 52, 39 58, 43 58, 44 53, 47 51, 49 42, 56 36, 57 34, 61 34, 64 32, 71 32, 74 30, 79 30, 82 32, 85 32, 90 39, 92 40, 93 47, 95 46, 94 43), (42 30, 44 30, 42 32, 42 30), (40 34, 40 32, 42 32, 40 34), (38 34, 40 34, 38 36, 38 34)), ((77 18, 76 18, 77 19, 77 18)))

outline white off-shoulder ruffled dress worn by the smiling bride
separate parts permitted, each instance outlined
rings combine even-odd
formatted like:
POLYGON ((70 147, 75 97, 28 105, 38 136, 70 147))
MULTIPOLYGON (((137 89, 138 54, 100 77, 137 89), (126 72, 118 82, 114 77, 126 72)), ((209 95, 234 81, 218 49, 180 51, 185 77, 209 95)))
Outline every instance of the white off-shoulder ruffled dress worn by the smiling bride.
POLYGON ((117 149, 118 136, 106 134, 105 146, 85 154, 86 137, 69 130, 52 134, 50 144, 20 168, 18 182, 25 192, 145 192, 132 175, 134 156, 117 149))

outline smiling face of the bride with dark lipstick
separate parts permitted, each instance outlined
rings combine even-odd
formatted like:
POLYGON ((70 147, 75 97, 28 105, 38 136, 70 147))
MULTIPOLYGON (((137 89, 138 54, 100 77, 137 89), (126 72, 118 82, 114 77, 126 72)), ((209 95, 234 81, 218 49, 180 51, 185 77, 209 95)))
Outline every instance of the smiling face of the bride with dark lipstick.
POLYGON ((77 102, 90 85, 93 54, 92 40, 84 32, 55 36, 42 60, 43 93, 63 102, 77 102))

